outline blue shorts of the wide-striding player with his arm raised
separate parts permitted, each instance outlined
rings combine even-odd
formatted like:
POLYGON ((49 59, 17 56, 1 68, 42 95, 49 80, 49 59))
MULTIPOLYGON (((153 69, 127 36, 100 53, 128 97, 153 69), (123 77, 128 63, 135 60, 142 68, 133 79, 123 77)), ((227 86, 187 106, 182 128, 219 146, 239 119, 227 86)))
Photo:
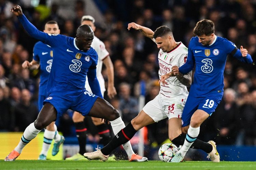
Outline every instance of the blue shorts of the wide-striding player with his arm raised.
POLYGON ((67 95, 63 92, 51 92, 44 100, 51 103, 57 110, 59 118, 68 109, 81 113, 83 116, 88 115, 98 96, 90 94, 87 90, 77 93, 76 95, 67 95))

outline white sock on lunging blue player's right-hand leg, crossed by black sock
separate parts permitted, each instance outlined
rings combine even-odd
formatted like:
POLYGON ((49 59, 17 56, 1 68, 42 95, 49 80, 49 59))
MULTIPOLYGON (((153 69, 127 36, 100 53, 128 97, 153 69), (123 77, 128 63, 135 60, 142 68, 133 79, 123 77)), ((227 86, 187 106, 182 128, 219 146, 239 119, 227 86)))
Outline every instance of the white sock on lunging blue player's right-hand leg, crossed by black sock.
MULTIPOLYGON (((123 122, 123 120, 121 119, 121 117, 117 118, 116 120, 110 121, 112 129, 114 134, 116 135, 120 130, 125 128, 125 123, 123 122)), ((131 143, 130 141, 126 142, 125 144, 122 145, 129 157, 129 159, 131 159, 131 155, 134 154, 132 147, 131 147, 131 143)))

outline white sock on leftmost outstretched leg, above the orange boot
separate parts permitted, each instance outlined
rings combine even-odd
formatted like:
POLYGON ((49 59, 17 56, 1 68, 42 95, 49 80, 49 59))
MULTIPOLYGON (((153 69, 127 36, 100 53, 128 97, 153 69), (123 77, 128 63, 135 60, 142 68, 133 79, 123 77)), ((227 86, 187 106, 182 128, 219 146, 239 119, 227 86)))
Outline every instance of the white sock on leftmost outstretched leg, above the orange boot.
POLYGON ((30 125, 28 125, 28 127, 25 129, 25 131, 24 131, 24 133, 22 135, 22 138, 19 141, 19 144, 16 146, 16 148, 14 150, 17 151, 18 153, 21 153, 22 149, 32 139, 34 139, 40 131, 41 130, 35 129, 34 122, 31 123, 30 125))

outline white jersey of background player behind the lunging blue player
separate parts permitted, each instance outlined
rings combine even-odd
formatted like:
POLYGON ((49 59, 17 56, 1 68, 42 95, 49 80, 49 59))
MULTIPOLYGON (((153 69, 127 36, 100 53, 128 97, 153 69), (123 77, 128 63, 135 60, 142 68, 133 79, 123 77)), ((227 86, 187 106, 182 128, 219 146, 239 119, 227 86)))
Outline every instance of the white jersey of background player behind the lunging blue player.
MULTIPOLYGON (((100 83, 100 89, 101 89, 101 92, 102 92, 102 95, 103 95, 104 91, 106 89, 105 89, 104 78, 101 74, 101 70, 102 70, 103 60, 107 56, 109 56, 109 52, 105 49, 104 43, 99 38, 97 38, 96 36, 94 36, 93 43, 91 43, 91 47, 93 47, 95 49, 95 51, 97 52, 97 54, 98 54, 98 64, 97 64, 96 73, 97 73, 98 81, 100 83)), ((85 88, 86 88, 86 90, 91 92, 90 86, 88 84, 87 77, 86 77, 86 82, 85 82, 85 88)))

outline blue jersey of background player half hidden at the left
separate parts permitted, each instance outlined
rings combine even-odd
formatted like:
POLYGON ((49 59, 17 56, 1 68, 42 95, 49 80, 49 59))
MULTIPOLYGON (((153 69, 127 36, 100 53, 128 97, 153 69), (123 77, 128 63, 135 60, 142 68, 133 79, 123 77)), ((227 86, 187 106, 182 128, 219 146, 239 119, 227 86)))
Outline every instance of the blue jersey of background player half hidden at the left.
POLYGON ((42 43, 37 42, 33 49, 33 59, 40 63, 40 84, 39 84, 39 95, 46 95, 46 86, 48 77, 51 72, 53 63, 53 50, 52 47, 42 43))

